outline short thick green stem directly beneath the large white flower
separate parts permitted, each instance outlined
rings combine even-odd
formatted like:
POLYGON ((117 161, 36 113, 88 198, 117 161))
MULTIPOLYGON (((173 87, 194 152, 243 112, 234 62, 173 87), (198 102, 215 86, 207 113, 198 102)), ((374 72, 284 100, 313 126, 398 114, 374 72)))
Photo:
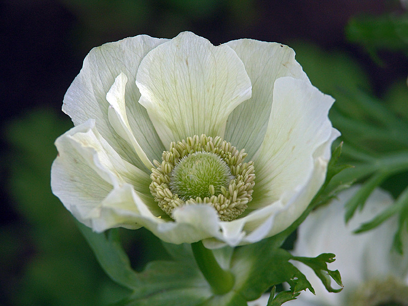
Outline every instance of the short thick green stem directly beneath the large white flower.
POLYGON ((203 246, 201 241, 191 244, 195 261, 207 279, 214 294, 229 292, 234 286, 234 275, 220 267, 213 252, 203 246))

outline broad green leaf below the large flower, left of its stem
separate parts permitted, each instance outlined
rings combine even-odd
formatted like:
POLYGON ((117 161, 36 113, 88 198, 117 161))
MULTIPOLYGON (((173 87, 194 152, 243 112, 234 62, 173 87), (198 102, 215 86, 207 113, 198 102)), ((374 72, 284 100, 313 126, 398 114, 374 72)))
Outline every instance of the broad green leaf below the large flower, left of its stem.
MULTIPOLYGON (((105 272, 118 284, 129 288, 132 293, 117 305, 126 306, 193 306, 208 300, 212 292, 194 261, 152 261, 145 269, 134 271, 124 252, 118 230, 108 234, 96 234, 83 224, 78 224, 95 256, 105 272)), ((168 246, 170 249, 171 247, 168 246)), ((177 253, 173 248, 173 254, 177 253)), ((191 256, 191 248, 179 246, 179 256, 191 256)))

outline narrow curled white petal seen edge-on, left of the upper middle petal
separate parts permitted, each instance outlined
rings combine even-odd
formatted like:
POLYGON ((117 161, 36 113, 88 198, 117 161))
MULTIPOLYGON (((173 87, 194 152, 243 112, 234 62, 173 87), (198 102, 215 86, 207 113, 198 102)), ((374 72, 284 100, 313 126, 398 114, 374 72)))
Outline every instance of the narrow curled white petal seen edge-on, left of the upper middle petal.
POLYGON ((129 121, 126 116, 125 107, 125 86, 127 77, 122 72, 116 77, 115 83, 113 83, 111 89, 106 94, 106 99, 110 104, 108 110, 108 118, 116 133, 127 142, 132 144, 136 154, 139 156, 142 163, 147 169, 153 168, 153 164, 147 158, 145 152, 137 142, 135 135, 133 135, 132 129, 129 125, 129 121))

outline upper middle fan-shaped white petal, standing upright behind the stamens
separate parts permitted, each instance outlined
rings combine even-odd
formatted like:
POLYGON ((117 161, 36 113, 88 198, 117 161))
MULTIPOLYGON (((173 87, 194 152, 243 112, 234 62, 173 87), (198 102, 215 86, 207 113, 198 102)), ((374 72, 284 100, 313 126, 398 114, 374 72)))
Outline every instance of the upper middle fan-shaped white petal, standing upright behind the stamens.
POLYGON ((191 32, 151 50, 140 63, 136 84, 139 103, 166 147, 195 134, 222 137, 228 115, 251 95, 234 50, 191 32))

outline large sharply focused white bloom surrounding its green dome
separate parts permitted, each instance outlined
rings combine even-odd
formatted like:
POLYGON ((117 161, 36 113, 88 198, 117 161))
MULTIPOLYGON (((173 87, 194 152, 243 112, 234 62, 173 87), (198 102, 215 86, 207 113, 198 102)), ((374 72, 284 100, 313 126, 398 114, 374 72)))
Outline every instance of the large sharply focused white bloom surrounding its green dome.
POLYGON ((190 32, 107 43, 91 50, 64 97, 75 127, 56 141, 52 189, 96 232, 144 226, 172 243, 256 242, 288 227, 322 185, 339 136, 327 117, 333 101, 278 43, 214 46, 190 32), (181 200, 169 184, 157 187, 179 162, 162 167, 163 151, 202 134, 212 137, 209 145, 222 138, 234 146, 230 159, 221 156, 236 179, 218 186, 225 197, 181 200), (253 163, 240 162, 242 149, 253 163), (150 174, 159 182, 152 192, 150 174), (244 191, 239 179, 248 183, 244 191))

